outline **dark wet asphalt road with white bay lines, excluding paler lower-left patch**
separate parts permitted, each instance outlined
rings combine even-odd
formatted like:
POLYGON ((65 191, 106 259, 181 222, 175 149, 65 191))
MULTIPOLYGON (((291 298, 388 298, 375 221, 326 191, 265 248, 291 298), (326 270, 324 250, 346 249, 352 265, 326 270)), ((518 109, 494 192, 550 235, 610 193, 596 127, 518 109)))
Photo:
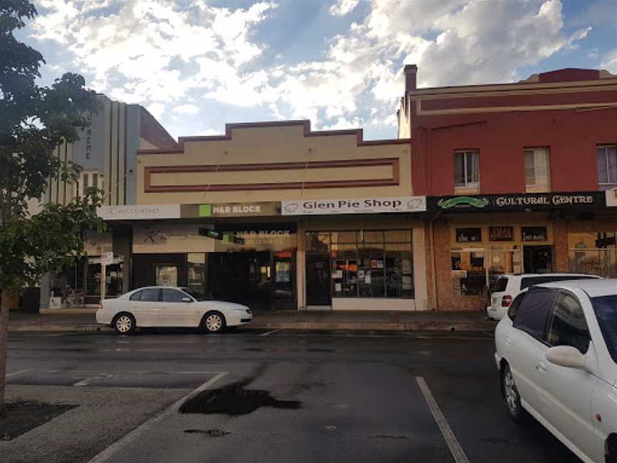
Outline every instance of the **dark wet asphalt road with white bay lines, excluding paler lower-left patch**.
POLYGON ((464 462, 459 445, 471 463, 578 462, 541 425, 508 418, 489 334, 11 334, 9 346, 14 389, 182 397, 207 384, 185 413, 156 405, 167 412, 115 453, 101 442, 74 461, 464 462))

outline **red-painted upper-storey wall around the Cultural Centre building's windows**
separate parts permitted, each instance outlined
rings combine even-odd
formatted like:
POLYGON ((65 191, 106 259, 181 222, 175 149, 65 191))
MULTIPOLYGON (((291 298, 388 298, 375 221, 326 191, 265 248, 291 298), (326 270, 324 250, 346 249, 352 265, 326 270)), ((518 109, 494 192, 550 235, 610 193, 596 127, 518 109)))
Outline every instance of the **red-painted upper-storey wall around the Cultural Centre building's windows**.
POLYGON ((454 193, 453 152, 479 149, 484 194, 525 191, 523 150, 548 147, 551 190, 598 189, 596 145, 617 144, 617 108, 414 116, 414 194, 454 193))

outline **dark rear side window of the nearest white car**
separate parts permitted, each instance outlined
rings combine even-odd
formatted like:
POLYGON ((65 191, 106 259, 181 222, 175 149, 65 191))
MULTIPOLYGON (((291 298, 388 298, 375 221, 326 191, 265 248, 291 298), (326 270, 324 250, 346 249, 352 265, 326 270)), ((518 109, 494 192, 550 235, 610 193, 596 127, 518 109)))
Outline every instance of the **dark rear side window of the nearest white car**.
POLYGON ((542 341, 558 289, 531 288, 516 311, 513 326, 542 341))

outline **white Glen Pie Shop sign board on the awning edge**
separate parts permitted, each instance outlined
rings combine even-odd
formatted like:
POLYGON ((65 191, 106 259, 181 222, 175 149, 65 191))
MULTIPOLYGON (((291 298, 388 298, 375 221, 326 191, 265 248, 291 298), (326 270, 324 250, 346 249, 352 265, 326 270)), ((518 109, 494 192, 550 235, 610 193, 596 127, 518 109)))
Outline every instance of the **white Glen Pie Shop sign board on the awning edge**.
POLYGON ((426 196, 281 201, 283 215, 373 214, 426 211, 426 196))

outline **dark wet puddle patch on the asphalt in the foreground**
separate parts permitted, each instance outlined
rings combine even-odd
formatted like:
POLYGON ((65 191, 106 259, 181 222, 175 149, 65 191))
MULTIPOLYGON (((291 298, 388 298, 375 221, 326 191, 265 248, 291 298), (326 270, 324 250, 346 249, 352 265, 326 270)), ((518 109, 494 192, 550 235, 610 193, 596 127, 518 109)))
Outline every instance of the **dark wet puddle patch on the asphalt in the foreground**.
POLYGON ((206 389, 194 397, 186 399, 180 406, 180 413, 242 415, 253 413, 261 407, 276 409, 299 409, 297 400, 279 400, 269 391, 246 389, 255 378, 229 384, 221 389, 206 389))

